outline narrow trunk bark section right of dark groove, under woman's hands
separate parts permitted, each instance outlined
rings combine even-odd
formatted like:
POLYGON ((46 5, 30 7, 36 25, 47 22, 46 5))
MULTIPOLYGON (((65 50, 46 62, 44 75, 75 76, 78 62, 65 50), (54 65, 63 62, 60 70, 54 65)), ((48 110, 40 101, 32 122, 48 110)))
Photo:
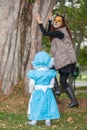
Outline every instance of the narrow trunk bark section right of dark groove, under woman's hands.
POLYGON ((31 69, 31 61, 33 60, 36 52, 40 51, 41 45, 42 45, 42 33, 40 29, 38 28, 38 24, 36 21, 36 15, 39 12, 41 15, 41 19, 43 21, 44 27, 46 26, 48 22, 48 13, 50 10, 53 9, 55 5, 55 0, 48 1, 47 0, 35 0, 35 3, 33 5, 32 10, 32 22, 31 22, 31 47, 30 47, 30 53, 29 53, 29 60, 27 64, 27 68, 25 71, 25 89, 26 92, 28 92, 28 79, 26 77, 26 73, 28 70, 31 69), (33 53, 32 53, 33 52, 33 53))

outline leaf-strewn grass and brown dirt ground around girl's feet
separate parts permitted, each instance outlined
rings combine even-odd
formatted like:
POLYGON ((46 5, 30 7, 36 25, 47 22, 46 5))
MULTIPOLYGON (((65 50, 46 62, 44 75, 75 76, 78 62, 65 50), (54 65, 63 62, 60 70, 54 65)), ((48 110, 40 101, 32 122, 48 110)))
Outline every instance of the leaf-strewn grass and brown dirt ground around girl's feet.
POLYGON ((37 126, 27 124, 28 95, 22 93, 4 96, 0 93, 0 130, 87 130, 87 93, 76 93, 78 108, 68 109, 69 99, 62 94, 58 101, 61 118, 52 120, 52 126, 46 127, 44 121, 37 126))

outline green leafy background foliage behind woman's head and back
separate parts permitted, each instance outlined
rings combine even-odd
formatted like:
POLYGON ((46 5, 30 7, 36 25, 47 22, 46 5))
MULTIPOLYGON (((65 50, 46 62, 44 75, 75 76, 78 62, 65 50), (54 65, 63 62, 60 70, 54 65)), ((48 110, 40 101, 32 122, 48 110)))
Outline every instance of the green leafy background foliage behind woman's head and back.
POLYGON ((65 14, 67 24, 72 31, 73 43, 76 49, 76 56, 79 59, 80 47, 87 39, 87 0, 58 0, 54 13, 65 14))

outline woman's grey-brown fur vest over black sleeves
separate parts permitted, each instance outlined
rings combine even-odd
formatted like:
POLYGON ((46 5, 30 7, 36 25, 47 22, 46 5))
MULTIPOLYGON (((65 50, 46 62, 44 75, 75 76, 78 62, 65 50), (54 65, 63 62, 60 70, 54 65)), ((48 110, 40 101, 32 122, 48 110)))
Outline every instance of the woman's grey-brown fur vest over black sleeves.
POLYGON ((66 30, 66 27, 58 29, 64 33, 63 39, 53 38, 51 42, 51 52, 54 57, 54 65, 56 69, 73 64, 76 62, 76 54, 72 41, 66 30))

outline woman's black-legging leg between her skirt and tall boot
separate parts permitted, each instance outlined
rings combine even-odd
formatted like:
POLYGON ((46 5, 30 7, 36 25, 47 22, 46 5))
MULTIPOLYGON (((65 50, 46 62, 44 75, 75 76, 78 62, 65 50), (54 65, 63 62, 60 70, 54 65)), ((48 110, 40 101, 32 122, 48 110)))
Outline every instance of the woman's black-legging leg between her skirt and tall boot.
POLYGON ((69 73, 67 74, 60 74, 60 84, 62 85, 62 87, 64 89, 66 89, 67 87, 69 87, 69 84, 67 82, 67 78, 69 76, 69 73))

